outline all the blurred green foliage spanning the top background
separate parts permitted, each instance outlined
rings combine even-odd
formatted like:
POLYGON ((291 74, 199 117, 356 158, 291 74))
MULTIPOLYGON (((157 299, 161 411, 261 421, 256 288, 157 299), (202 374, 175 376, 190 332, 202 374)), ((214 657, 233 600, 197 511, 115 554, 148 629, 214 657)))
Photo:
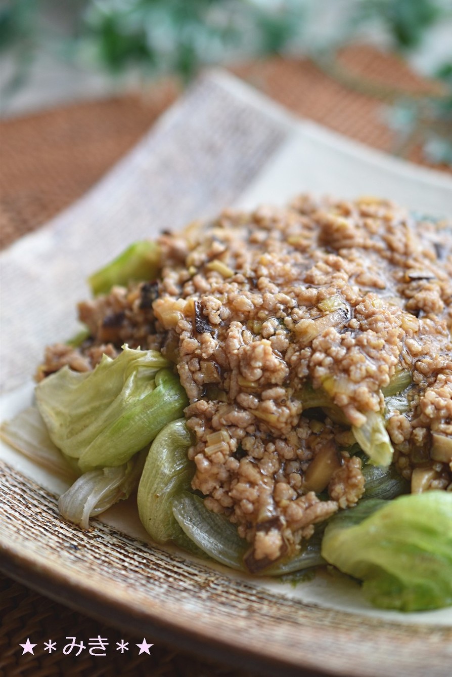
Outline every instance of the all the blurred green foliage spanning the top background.
MULTIPOLYGON (((274 53, 308 54, 325 65, 339 47, 375 28, 407 56, 452 15, 452 0, 337 2, 346 19, 338 20, 329 44, 316 44, 312 24, 322 21, 328 0, 0 0, 0 51, 16 58, 5 91, 20 87, 39 49, 101 64, 115 77, 132 70, 186 83, 202 66, 274 53), (64 17, 61 25, 48 21, 54 13, 64 17)), ((336 77, 334 64, 329 72, 336 77)), ((449 60, 432 75, 443 82, 444 95, 420 100, 395 93, 387 120, 397 131, 398 152, 421 141, 430 160, 452 164, 452 39, 449 60)), ((371 82, 344 81, 388 102, 371 82)))

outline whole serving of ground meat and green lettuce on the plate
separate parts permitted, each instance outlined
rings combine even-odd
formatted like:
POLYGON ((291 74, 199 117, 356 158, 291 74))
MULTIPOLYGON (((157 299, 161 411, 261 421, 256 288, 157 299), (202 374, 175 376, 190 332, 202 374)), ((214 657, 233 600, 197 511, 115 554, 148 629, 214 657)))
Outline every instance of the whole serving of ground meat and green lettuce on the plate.
POLYGON ((62 515, 87 527, 138 485, 157 542, 259 574, 327 561, 386 607, 452 603, 451 252, 445 220, 305 195, 130 246, 37 374, 80 475, 62 515), (394 548, 372 544, 385 528, 394 548), (416 581, 449 572, 431 594, 397 578, 424 552, 416 581))

